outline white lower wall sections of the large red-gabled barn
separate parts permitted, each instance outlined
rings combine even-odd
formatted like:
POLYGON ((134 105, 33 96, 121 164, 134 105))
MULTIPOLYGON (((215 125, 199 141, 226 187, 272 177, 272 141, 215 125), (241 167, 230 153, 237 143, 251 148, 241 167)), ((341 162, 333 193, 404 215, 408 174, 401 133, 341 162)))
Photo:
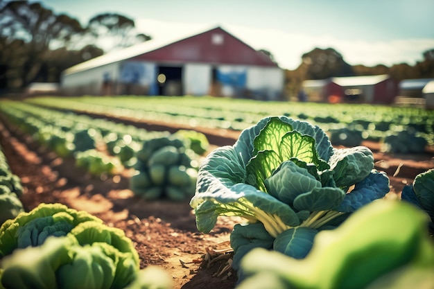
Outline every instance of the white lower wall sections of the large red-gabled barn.
MULTIPOLYGON (((141 67, 144 75, 140 76, 139 82, 131 91, 134 94, 155 95, 156 74, 158 64, 155 62, 121 61, 105 64, 86 71, 65 74, 62 77, 62 91, 65 94, 91 94, 101 95, 105 73, 110 74, 113 81, 112 94, 128 94, 125 92, 127 76, 123 67, 141 67), (123 79, 125 78, 125 79, 123 79)), ((225 97, 241 97, 248 91, 248 97, 261 100, 279 100, 284 87, 284 71, 278 67, 252 67, 245 65, 218 65, 214 66, 222 73, 245 73, 245 87, 243 91, 236 91, 236 87, 223 85, 221 94, 225 97)), ((209 94, 212 85, 211 64, 184 64, 182 85, 184 94, 204 96, 209 94)), ((128 73, 127 73, 128 74, 128 73)))

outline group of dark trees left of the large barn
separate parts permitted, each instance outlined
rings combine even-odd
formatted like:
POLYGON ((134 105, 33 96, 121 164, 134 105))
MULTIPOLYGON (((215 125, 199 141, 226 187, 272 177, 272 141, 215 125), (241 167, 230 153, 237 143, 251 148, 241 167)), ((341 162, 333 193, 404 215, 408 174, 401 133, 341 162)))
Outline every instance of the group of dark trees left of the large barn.
POLYGON ((83 26, 41 3, 0 0, 0 93, 59 82, 68 67, 146 40, 123 15, 103 13, 83 26))

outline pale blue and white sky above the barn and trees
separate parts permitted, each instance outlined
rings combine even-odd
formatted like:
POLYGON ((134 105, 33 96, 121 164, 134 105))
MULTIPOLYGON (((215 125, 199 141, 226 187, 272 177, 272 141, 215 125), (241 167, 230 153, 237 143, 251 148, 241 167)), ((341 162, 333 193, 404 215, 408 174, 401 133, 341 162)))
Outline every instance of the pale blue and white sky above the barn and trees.
POLYGON ((434 49, 433 0, 44 0, 44 7, 86 25, 103 12, 134 19, 137 29, 166 41, 220 26, 284 69, 302 55, 333 48, 351 64, 407 63, 434 49))

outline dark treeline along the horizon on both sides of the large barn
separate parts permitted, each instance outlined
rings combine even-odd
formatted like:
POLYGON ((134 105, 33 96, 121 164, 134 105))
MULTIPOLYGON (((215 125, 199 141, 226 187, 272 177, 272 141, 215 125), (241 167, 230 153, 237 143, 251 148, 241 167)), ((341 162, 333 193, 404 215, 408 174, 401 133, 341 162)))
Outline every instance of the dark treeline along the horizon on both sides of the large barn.
MULTIPOLYGON (((41 3, 0 0, 0 93, 22 91, 32 82, 60 82, 68 67, 147 40, 150 36, 138 33, 134 21, 123 15, 101 13, 83 26, 41 3)), ((434 48, 421 53, 422 62, 414 66, 365 67, 351 66, 334 49, 313 49, 302 55, 300 67, 286 70, 286 95, 295 96, 303 80, 333 76, 434 78, 434 48)))

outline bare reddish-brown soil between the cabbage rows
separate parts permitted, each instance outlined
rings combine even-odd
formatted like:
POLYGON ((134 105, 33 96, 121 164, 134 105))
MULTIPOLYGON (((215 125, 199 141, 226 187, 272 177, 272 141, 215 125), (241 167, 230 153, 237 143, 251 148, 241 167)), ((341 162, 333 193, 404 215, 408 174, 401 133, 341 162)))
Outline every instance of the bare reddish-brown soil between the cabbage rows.
MULTIPOLYGON (((154 130, 180 129, 178 125, 149 121, 135 125, 154 130)), ((194 129, 207 134, 210 150, 233 144, 239 135, 230 130, 194 129)), ((374 152, 376 168, 390 177, 388 198, 399 198, 403 186, 413 182, 417 174, 434 168, 433 150, 422 155, 388 155, 379 151, 379 143, 362 144, 374 152)), ((139 252, 141 268, 164 268, 173 277, 174 289, 236 286, 236 272, 229 265, 229 234, 241 219, 220 217, 209 234, 202 234, 196 229, 188 200, 149 202, 134 197, 128 189, 130 171, 102 179, 91 177, 78 170, 72 159, 57 157, 1 118, 0 145, 12 173, 21 178, 25 191, 21 202, 26 210, 42 202, 60 202, 123 229, 139 252)))

